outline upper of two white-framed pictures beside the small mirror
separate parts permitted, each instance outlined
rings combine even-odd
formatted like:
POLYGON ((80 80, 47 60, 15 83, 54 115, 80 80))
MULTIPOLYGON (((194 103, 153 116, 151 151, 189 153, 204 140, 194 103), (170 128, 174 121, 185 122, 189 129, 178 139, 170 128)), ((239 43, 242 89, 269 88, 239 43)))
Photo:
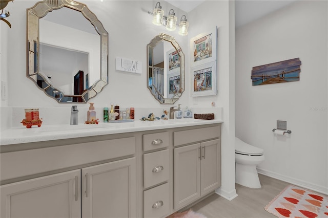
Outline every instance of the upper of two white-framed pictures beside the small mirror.
POLYGON ((191 66, 216 61, 217 27, 212 31, 201 33, 190 40, 191 66))

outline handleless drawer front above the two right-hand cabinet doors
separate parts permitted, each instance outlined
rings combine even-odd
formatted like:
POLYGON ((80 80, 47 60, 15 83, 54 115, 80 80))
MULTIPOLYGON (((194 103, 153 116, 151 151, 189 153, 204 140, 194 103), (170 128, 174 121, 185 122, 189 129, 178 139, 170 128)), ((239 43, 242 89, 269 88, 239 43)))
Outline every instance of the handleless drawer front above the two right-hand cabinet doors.
POLYGON ((183 145, 220 138, 220 126, 183 130, 173 133, 173 145, 183 145))

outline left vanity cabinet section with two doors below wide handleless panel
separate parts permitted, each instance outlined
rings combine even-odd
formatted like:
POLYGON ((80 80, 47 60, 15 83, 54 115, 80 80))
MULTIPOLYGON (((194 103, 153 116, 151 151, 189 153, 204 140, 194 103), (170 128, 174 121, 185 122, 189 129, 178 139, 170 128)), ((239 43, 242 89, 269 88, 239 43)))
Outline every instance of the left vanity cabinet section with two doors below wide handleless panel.
POLYGON ((1 217, 136 217, 135 141, 2 153, 1 217))

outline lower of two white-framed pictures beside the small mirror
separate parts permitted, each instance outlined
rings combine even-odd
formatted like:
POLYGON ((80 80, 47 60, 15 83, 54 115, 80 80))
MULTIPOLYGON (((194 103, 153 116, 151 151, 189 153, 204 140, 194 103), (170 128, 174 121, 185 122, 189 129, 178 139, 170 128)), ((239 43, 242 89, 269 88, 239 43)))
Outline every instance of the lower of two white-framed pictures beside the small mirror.
POLYGON ((192 97, 216 95, 216 61, 192 68, 192 97))

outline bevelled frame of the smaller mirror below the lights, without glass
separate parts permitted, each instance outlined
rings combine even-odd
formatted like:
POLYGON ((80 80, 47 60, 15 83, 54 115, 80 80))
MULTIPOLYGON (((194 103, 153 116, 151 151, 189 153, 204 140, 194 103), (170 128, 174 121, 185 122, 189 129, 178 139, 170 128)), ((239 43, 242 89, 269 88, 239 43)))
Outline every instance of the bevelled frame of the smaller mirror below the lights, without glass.
POLYGON ((154 98, 159 101, 160 104, 174 104, 182 95, 183 91, 185 91, 185 54, 183 54, 182 49, 180 48, 178 42, 174 39, 173 36, 167 35, 165 33, 160 33, 159 35, 155 36, 151 42, 147 45, 147 88, 151 92, 151 94, 154 96, 154 98), (153 49, 156 47, 158 42, 161 41, 168 41, 172 44, 174 49, 177 51, 177 53, 180 56, 180 90, 177 92, 172 98, 164 98, 156 87, 154 85, 149 86, 149 73, 150 70, 153 71, 154 68, 154 54, 153 54, 153 49), (151 65, 149 64, 150 62, 150 57, 149 54, 151 52, 151 65), (155 92, 153 92, 153 89, 155 89, 155 92), (159 96, 160 99, 157 97, 159 96))

